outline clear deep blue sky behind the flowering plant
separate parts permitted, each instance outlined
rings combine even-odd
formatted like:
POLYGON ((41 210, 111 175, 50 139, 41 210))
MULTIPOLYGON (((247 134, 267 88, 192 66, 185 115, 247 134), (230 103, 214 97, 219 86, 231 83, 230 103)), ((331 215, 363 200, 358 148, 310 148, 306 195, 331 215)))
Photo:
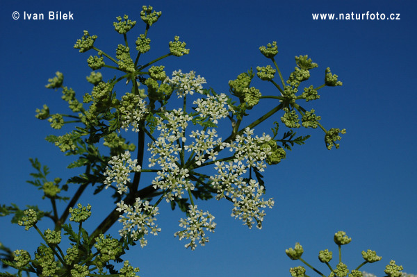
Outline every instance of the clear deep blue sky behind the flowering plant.
MULTIPOLYGON (((287 151, 287 158, 265 172, 267 196, 275 207, 267 210, 263 229, 249 230, 230 217, 226 201, 199 203, 215 216, 218 226, 210 242, 195 251, 174 238, 181 212, 161 204, 158 237, 148 246, 129 251, 124 258, 140 267, 145 276, 290 276, 288 269, 301 265, 284 250, 295 242, 304 246, 304 260, 328 274, 317 259, 318 251, 336 253, 333 235, 345 230, 352 242, 343 247, 343 261, 354 269, 361 251, 372 249, 381 262, 362 267, 384 276, 385 265, 395 260, 404 271, 417 274, 416 188, 416 74, 417 6, 415 1, 1 1, 0 30, 1 183, 0 203, 39 204, 50 210, 42 193, 26 183, 32 172, 28 158, 38 157, 51 169, 51 178, 65 180, 65 169, 74 157, 65 157, 44 141, 50 133, 63 134, 35 119, 35 109, 47 103, 51 113, 62 111, 60 92, 44 85, 56 71, 65 75, 64 85, 81 97, 90 92, 85 76, 91 72, 86 59, 95 53, 79 53, 74 43, 88 30, 98 35, 95 46, 114 53, 122 35, 113 28, 115 17, 129 15, 138 23, 128 33, 129 42, 144 33, 139 12, 152 5, 163 12, 148 33, 151 51, 145 62, 168 53, 174 35, 187 43, 190 54, 170 57, 167 73, 195 70, 217 92, 228 92, 228 81, 250 67, 270 64, 259 52, 261 45, 277 41, 275 57, 284 78, 295 67, 295 56, 306 55, 319 67, 311 71, 311 84, 323 83, 326 67, 343 81, 342 87, 326 87, 321 98, 306 103, 322 117, 326 128, 346 128, 340 149, 327 151, 319 129, 300 130, 311 139, 287 151), (24 20, 24 11, 71 11, 74 20, 24 20), (21 18, 14 20, 14 11, 21 18), (390 13, 400 20, 313 20, 312 13, 390 13), (319 265, 320 264, 320 265, 319 265)), ((114 54, 113 54, 114 55, 114 54)), ((104 78, 115 72, 102 70, 104 78)), ((254 81, 262 94, 276 94, 272 85, 254 81)), ((269 109, 268 103, 254 114, 269 109)), ((273 120, 279 121, 279 117, 273 120)), ((271 123, 271 122, 270 122, 271 123)), ((284 125, 284 124, 282 124, 284 125)), ((265 131, 268 125, 263 125, 265 131)), ((145 162, 146 163, 146 162, 145 162)), ((91 192, 89 190, 88 192, 91 192)), ((91 203, 95 222, 113 209, 108 194, 91 203)), ((60 205, 63 208, 64 205, 60 205)), ((41 228, 50 228, 44 219, 41 228)), ((88 228, 88 227, 87 227, 88 228)), ((90 228, 93 228, 91 226, 90 228)), ((111 229, 117 233, 117 226, 111 229)), ((0 218, 0 242, 10 249, 33 253, 40 243, 34 230, 11 226, 0 218)), ((335 261, 334 261, 335 262, 335 261)), ((332 263, 336 266, 336 263, 332 263)), ((307 271, 309 276, 316 276, 307 271)))

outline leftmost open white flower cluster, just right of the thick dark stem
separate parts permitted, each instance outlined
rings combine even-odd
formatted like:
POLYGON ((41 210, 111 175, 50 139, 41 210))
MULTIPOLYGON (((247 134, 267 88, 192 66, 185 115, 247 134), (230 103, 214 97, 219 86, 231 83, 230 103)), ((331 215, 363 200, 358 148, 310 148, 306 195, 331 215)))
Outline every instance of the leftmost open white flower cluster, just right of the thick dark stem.
POLYGON ((126 151, 120 154, 120 156, 113 156, 108 162, 108 165, 110 167, 107 167, 106 172, 104 172, 104 176, 107 176, 106 180, 104 180, 106 190, 115 182, 118 193, 123 194, 127 192, 126 183, 130 182, 129 174, 140 171, 138 160, 131 160, 130 152, 126 151))

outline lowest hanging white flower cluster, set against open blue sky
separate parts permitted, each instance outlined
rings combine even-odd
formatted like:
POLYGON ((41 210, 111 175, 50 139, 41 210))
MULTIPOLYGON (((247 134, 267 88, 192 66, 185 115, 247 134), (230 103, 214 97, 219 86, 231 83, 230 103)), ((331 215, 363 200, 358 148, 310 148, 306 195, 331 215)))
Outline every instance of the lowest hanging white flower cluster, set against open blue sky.
POLYGON ((208 242, 208 237, 206 237, 204 229, 214 233, 215 222, 213 221, 213 215, 209 212, 203 212, 203 210, 197 210, 197 205, 190 205, 188 208, 190 209, 188 210, 190 216, 179 221, 179 226, 185 230, 175 233, 174 236, 178 236, 179 240, 183 238, 190 240, 185 246, 186 248, 191 247, 191 250, 194 250, 197 247, 197 240, 202 246, 208 242))

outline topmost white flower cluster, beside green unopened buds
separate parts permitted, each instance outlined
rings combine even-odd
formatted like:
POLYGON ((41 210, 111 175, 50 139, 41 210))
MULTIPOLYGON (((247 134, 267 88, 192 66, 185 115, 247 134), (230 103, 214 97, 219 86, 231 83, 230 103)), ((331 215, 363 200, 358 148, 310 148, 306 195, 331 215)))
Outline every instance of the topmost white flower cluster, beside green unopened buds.
POLYGON ((178 98, 181 98, 186 94, 193 95, 194 92, 202 93, 202 84, 207 82, 206 79, 199 75, 196 78, 195 72, 193 71, 184 74, 179 69, 178 71, 172 72, 172 79, 166 78, 164 83, 170 83, 174 87, 174 90, 177 90, 178 98))

